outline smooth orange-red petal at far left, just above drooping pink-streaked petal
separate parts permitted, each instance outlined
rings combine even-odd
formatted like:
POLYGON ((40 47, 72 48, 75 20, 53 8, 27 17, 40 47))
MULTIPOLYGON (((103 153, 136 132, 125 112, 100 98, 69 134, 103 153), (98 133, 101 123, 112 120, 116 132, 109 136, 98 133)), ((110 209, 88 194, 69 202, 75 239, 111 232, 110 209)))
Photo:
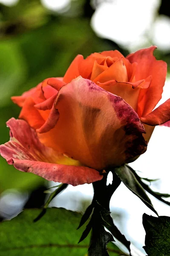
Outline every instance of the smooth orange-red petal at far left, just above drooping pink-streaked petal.
POLYGON ((44 119, 39 111, 34 107, 35 102, 32 98, 27 98, 20 112, 19 118, 26 120, 29 125, 35 129, 40 128, 44 124, 44 119))

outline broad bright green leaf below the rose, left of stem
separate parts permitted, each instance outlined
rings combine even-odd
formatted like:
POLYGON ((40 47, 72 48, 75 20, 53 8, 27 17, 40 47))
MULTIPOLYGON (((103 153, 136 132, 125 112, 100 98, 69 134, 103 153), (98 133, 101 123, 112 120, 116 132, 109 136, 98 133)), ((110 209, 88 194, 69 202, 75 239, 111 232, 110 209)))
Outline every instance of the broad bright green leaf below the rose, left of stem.
MULTIPOLYGON (((0 223, 0 256, 85 256, 89 239, 78 240, 82 229, 76 230, 81 214, 63 208, 48 208, 36 223, 40 209, 25 209, 11 221, 0 223)), ((111 256, 124 255, 114 244, 111 256)))

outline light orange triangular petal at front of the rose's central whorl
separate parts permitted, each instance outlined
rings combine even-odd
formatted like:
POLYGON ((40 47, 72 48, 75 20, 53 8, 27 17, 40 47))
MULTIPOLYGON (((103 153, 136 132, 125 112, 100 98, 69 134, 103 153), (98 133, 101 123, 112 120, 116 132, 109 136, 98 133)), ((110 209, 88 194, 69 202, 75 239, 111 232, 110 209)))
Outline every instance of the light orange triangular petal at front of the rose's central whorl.
POLYGON ((104 83, 109 80, 116 80, 121 82, 127 82, 127 69, 123 63, 122 59, 116 61, 112 66, 110 66, 107 70, 97 76, 93 82, 104 83))

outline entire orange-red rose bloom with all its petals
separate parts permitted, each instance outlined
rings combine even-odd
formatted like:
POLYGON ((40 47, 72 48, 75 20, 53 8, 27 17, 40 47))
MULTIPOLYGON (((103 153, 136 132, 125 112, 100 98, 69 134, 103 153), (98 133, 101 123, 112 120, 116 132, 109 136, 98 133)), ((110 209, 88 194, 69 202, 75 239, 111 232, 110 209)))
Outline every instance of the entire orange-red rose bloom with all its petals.
POLYGON ((11 139, 1 155, 20 171, 73 186, 134 161, 154 126, 170 120, 170 100, 153 111, 167 73, 155 48, 126 58, 117 50, 78 55, 63 78, 12 97, 22 110, 7 122, 11 139))

